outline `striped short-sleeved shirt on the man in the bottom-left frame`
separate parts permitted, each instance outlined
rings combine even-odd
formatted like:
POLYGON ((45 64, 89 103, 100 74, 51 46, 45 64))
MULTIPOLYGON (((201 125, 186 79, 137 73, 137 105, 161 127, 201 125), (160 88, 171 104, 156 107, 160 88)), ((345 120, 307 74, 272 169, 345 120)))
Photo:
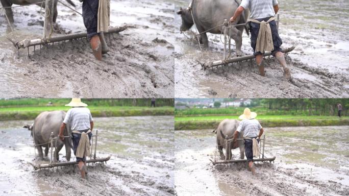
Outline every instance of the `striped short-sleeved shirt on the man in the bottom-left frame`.
POLYGON ((74 107, 70 108, 65 115, 63 122, 70 125, 72 131, 82 131, 91 129, 92 115, 88 108, 74 107))

